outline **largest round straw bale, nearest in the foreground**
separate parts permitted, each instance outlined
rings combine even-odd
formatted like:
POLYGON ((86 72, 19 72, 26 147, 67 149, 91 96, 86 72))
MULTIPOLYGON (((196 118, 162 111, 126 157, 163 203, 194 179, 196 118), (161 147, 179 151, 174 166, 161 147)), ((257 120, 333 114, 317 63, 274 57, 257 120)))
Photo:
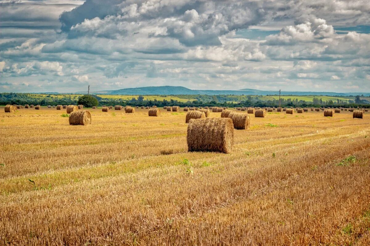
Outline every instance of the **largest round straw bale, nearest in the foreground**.
POLYGON ((230 118, 205 118, 189 121, 186 141, 188 151, 230 153, 234 129, 230 118))

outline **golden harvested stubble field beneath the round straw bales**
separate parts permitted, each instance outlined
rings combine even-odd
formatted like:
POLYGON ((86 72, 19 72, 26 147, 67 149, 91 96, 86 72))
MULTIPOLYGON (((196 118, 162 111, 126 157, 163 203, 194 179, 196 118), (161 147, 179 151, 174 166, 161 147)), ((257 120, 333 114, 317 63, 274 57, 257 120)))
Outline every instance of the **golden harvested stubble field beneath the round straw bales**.
POLYGON ((0 245, 370 245, 367 112, 250 115, 222 154, 182 108, 87 110, 0 107, 0 245))

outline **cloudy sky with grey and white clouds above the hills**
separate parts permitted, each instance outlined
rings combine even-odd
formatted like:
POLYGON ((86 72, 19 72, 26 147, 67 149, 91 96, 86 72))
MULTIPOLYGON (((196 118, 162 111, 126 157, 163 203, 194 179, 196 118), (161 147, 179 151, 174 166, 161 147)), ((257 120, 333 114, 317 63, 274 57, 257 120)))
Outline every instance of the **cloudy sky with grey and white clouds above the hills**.
POLYGON ((0 92, 370 91, 369 0, 0 0, 0 92))

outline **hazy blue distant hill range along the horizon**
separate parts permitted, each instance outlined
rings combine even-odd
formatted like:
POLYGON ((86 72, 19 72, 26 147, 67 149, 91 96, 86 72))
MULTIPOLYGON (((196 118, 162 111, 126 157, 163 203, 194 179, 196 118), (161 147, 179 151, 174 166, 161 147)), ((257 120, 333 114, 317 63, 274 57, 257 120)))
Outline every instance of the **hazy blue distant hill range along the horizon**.
MULTIPOLYGON (((77 92, 78 93, 78 92, 77 92)), ((183 86, 147 86, 137 88, 126 88, 119 90, 93 91, 94 94, 110 94, 110 95, 278 95, 279 91, 264 91, 253 89, 241 90, 191 90, 183 86)), ((370 93, 363 92, 313 92, 313 91, 282 91, 282 95, 295 96, 370 96, 370 93)))

